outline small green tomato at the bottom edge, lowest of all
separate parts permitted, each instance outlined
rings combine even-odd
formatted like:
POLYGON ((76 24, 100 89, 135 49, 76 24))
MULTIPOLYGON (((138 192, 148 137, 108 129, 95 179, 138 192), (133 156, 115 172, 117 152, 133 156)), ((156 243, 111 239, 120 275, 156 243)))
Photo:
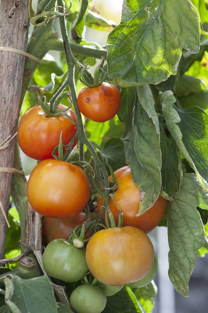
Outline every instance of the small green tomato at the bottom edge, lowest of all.
POLYGON ((103 290, 92 285, 78 286, 70 296, 71 306, 78 313, 101 313, 106 302, 103 290))

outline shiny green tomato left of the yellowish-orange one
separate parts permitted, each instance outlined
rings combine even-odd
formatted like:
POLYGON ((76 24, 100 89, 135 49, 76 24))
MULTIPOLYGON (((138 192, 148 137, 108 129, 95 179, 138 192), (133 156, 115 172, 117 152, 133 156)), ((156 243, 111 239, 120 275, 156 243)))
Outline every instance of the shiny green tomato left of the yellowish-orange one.
POLYGON ((85 248, 76 248, 65 239, 52 240, 43 253, 43 267, 54 278, 73 283, 89 271, 85 248))

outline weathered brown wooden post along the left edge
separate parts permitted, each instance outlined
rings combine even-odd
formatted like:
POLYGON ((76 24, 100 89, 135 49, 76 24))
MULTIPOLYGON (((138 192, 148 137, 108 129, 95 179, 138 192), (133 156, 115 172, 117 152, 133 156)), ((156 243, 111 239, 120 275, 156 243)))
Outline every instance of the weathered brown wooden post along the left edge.
MULTIPOLYGON (((0 47, 27 50, 28 41, 28 0, 20 0, 19 9, 12 18, 9 11, 14 6, 14 0, 0 2, 0 47)), ((0 143, 17 130, 20 106, 20 95, 23 82, 25 57, 23 55, 0 51, 0 143)), ((0 167, 13 167, 15 139, 0 150, 0 167)), ((11 189, 11 173, 0 172, 0 199, 8 215, 11 189)), ((0 259, 3 259, 5 249, 7 224, 0 210, 0 259)))

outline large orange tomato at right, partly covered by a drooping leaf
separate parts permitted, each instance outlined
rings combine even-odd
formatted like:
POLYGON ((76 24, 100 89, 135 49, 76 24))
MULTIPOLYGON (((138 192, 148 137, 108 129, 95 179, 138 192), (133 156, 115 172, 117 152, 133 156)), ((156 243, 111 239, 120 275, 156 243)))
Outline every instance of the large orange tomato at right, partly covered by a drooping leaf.
MULTIPOLYGON (((118 206, 123 213, 123 226, 134 226, 141 229, 145 233, 149 233, 153 230, 163 218, 167 207, 167 200, 158 197, 154 205, 145 213, 138 217, 134 217, 139 212, 140 206, 140 190, 134 184, 131 177, 130 166, 124 166, 114 172, 116 180, 118 182, 118 189, 114 192, 114 200, 109 198, 110 210, 114 215, 116 223, 118 223, 118 206)), ((112 177, 109 177, 109 181, 112 181, 112 177)), ((98 214, 100 214, 101 206, 104 199, 101 195, 98 197, 98 214)))

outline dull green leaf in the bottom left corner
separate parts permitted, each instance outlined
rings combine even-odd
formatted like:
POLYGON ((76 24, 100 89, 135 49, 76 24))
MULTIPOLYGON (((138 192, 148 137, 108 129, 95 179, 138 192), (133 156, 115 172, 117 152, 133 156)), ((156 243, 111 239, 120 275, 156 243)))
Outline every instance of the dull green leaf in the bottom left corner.
POLYGON ((5 302, 15 313, 57 313, 53 289, 47 276, 28 280, 9 275, 5 280, 5 302))

